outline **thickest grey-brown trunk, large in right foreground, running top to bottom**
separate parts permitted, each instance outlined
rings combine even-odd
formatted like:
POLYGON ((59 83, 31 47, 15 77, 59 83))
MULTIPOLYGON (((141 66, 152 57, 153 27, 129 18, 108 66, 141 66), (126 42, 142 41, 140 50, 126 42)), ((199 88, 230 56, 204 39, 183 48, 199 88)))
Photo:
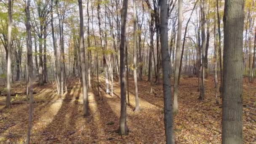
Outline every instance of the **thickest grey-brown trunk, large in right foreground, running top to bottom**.
POLYGON ((225 0, 222 143, 243 143, 243 0, 225 0))

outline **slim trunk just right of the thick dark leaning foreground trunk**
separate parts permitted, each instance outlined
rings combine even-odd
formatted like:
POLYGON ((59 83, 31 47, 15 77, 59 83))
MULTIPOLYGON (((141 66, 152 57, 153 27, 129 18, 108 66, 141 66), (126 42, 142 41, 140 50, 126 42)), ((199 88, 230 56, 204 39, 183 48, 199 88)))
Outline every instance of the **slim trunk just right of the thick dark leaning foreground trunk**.
POLYGON ((178 93, 179 93, 179 67, 181 59, 181 29, 182 29, 182 0, 179 0, 178 12, 178 33, 176 44, 176 60, 175 60, 175 73, 174 73, 174 89, 173 89, 173 114, 178 113, 178 93))

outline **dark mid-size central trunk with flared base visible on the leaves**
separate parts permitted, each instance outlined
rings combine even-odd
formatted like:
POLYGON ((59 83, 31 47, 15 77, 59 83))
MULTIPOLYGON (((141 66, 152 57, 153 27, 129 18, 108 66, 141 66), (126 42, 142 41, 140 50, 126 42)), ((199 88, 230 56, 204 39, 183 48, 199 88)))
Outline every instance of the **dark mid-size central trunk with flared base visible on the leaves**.
POLYGON ((123 0, 121 9, 121 40, 120 40, 120 89, 121 89, 121 115, 119 122, 119 134, 128 135, 128 126, 126 123, 126 90, 125 90, 125 35, 126 35, 126 17, 128 0, 123 0))

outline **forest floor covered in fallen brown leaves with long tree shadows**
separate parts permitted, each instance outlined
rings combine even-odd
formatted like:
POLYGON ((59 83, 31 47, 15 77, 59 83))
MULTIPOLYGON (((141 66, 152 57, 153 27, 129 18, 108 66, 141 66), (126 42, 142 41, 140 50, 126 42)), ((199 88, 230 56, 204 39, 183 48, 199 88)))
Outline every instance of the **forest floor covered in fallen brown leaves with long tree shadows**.
MULTIPOLYGON (((70 78, 71 79, 71 78, 70 78)), ((145 78, 146 79, 146 78, 145 78)), ((165 143, 163 120, 163 85, 153 85, 146 80, 138 82, 141 111, 133 112, 135 98, 133 79, 129 79, 130 105, 127 120, 130 133, 119 136, 120 87, 114 85, 114 96, 104 93, 101 80, 100 96, 97 83, 88 93, 88 117, 83 117, 83 95, 77 79, 69 80, 68 92, 60 99, 55 87, 34 85, 35 101, 32 123, 32 144, 105 144, 105 143, 165 143)), ((0 88, 4 88, 2 85, 0 88)), ((25 83, 12 85, 16 93, 25 93, 25 83)), ((181 78, 179 86, 179 113, 174 119, 177 144, 220 144, 221 105, 216 104, 214 80, 205 80, 205 99, 198 101, 196 77, 181 78)), ((173 88, 172 88, 173 90, 173 88)), ((22 94, 12 96, 12 101, 26 100, 22 94)), ((5 96, 0 96, 0 102, 5 96)), ((220 104, 221 99, 219 98, 220 104)), ((24 143, 28 124, 28 104, 13 104, 11 109, 0 106, 0 144, 24 143)), ((243 141, 256 143, 256 83, 243 83, 243 141)))

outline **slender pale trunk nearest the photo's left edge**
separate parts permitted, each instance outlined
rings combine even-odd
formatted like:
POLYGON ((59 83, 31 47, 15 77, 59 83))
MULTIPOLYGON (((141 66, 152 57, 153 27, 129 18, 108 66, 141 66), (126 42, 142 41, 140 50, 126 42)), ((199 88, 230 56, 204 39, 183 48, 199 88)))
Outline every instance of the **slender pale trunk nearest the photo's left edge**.
POLYGON ((7 53, 7 97, 6 106, 11 107, 11 24, 12 24, 12 1, 8 0, 8 53, 7 53))

